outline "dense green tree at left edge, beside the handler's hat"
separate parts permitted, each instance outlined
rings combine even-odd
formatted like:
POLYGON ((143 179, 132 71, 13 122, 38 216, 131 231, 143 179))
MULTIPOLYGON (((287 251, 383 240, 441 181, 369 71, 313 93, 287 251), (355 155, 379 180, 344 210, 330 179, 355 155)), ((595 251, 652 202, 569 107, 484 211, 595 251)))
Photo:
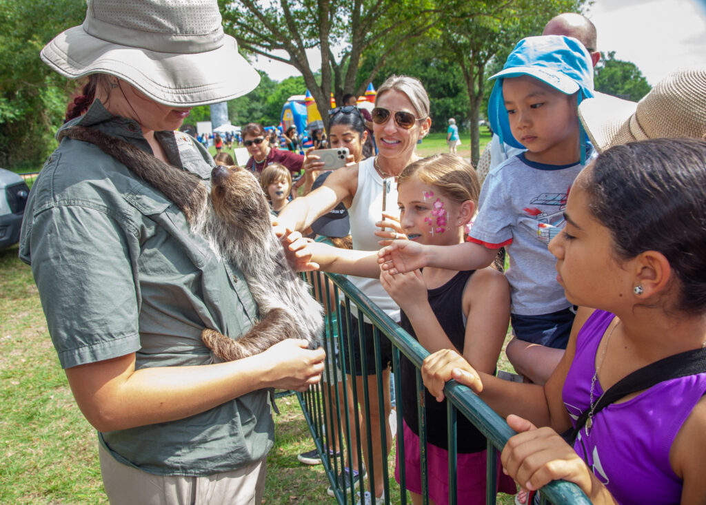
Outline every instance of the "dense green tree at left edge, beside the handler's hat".
POLYGON ((84 14, 83 0, 0 2, 0 166, 38 164, 56 147, 75 84, 42 63, 40 50, 84 14))

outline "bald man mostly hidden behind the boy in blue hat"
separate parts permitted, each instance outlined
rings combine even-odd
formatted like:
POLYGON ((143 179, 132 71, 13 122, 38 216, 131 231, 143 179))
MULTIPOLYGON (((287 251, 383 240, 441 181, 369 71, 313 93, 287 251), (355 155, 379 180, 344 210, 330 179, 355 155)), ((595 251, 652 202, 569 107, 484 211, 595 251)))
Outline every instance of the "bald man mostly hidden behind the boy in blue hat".
MULTIPOLYGON (((564 35, 566 37, 574 37, 581 42, 587 51, 591 54, 593 66, 596 66, 601 59, 601 54, 596 50, 596 27, 589 18, 582 14, 566 12, 558 14, 549 20, 549 23, 544 25, 542 35, 564 35)), ((481 178, 481 183, 485 180, 488 172, 496 166, 504 162, 506 159, 524 152, 524 149, 517 149, 509 145, 502 145, 498 135, 493 134, 493 138, 486 145, 486 148, 478 160, 477 172, 481 178)))

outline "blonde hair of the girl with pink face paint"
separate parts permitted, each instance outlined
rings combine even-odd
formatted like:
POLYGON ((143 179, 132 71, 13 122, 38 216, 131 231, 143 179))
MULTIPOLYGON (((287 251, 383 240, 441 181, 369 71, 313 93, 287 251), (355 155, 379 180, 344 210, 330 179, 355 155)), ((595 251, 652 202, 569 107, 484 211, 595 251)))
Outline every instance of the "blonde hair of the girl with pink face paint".
POLYGON ((469 162, 454 154, 433 154, 407 165, 397 178, 397 186, 412 177, 419 178, 424 184, 433 185, 442 195, 457 204, 471 200, 474 205, 478 205, 481 193, 478 174, 469 162))

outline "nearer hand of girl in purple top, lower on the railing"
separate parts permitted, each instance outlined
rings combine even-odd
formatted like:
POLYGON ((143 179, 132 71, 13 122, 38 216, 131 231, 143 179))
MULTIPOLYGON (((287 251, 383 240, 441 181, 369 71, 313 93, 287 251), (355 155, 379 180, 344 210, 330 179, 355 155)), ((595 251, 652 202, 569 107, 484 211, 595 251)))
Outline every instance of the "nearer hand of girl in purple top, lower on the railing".
POLYGON ((508 425, 517 432, 505 444, 503 471, 523 489, 535 491, 552 480, 568 480, 591 496, 592 473, 583 460, 550 427, 537 428, 517 415, 508 415, 508 425))

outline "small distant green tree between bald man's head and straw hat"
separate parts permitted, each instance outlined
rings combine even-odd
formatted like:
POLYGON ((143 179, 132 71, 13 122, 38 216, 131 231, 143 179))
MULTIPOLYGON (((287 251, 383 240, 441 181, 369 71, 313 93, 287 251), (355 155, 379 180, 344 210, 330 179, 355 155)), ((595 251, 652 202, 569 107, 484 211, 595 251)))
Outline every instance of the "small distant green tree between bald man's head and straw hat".
POLYGON ((594 86, 597 91, 639 102, 652 89, 638 66, 630 61, 616 59, 615 51, 601 53, 596 66, 594 86))

